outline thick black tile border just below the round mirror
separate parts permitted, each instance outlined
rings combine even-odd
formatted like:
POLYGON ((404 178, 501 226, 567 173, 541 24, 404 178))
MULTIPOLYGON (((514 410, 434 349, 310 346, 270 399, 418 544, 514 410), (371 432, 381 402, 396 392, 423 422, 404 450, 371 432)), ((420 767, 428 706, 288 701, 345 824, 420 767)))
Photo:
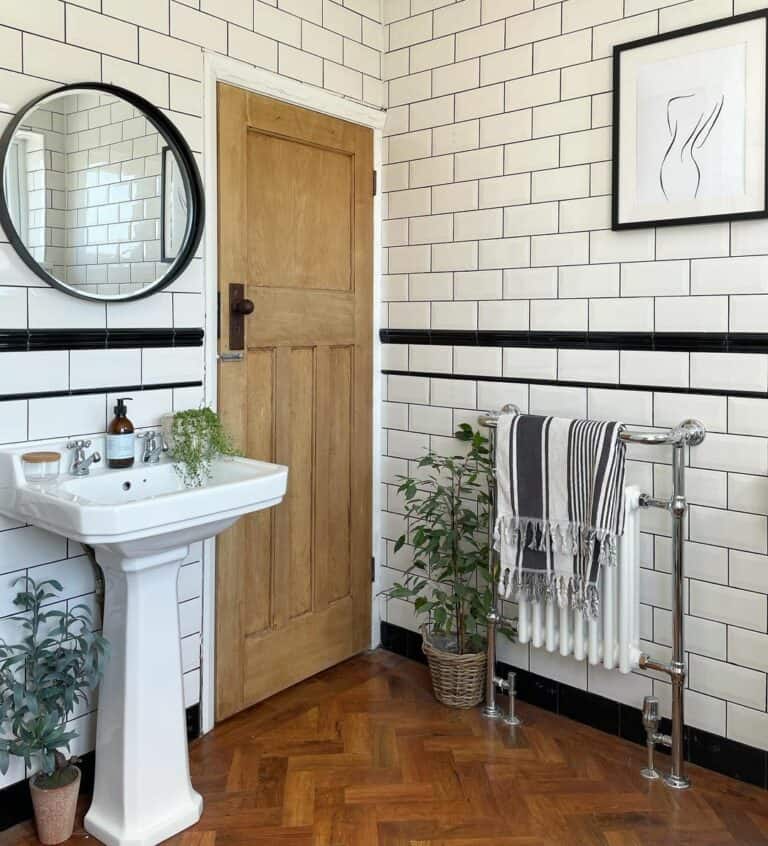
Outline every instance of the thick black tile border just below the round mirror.
POLYGON ((0 329, 0 352, 201 347, 202 329, 0 329))

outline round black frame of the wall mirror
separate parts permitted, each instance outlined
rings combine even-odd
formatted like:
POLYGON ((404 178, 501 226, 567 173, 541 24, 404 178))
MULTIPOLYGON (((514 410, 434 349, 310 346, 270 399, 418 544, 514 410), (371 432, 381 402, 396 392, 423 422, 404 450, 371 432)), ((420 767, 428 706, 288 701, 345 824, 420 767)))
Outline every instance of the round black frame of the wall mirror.
POLYGON ((45 94, 31 100, 23 108, 19 109, 13 120, 8 124, 2 137, 0 138, 0 225, 2 225, 8 240, 16 251, 17 255, 30 270, 39 276, 44 282, 47 282, 53 288, 63 291, 72 297, 77 297, 81 300, 88 300, 89 302, 130 302, 131 300, 140 300, 143 297, 148 297, 156 294, 167 288, 174 280, 176 280, 189 266, 195 252, 200 244, 200 239, 203 236, 203 227, 205 225, 205 194, 203 191, 203 183, 200 178, 200 171, 197 167, 194 154, 187 144, 183 135, 174 126, 169 118, 167 118, 157 106, 153 106, 144 97, 121 88, 117 85, 109 85, 102 82, 83 82, 71 85, 63 85, 60 88, 55 88, 45 94), (8 155, 8 149, 13 140, 13 136, 22 123, 26 115, 43 100, 47 100, 56 94, 65 94, 67 92, 75 91, 98 91, 105 94, 112 94, 115 97, 120 97, 127 103, 130 103, 134 108, 139 109, 160 135, 165 140, 166 146, 170 147, 174 155, 181 165, 180 171, 182 179, 184 180, 184 188, 190 199, 189 209, 190 213, 187 218, 187 228, 184 233, 184 242, 179 250, 175 262, 171 265, 168 272, 158 279, 152 285, 148 285, 144 290, 130 296, 122 297, 104 297, 78 291, 76 288, 61 282, 50 273, 45 271, 39 263, 33 258, 29 250, 26 248, 21 238, 16 232, 16 227, 11 220, 10 212, 8 211, 8 198, 5 195, 5 162, 8 155))

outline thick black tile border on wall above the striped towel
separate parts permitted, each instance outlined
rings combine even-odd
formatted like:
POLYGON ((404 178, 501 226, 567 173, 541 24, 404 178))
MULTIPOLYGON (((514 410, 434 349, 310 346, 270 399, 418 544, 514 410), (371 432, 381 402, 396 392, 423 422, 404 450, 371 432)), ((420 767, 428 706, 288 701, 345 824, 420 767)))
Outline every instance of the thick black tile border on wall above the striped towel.
POLYGON ((536 347, 565 350, 768 353, 758 332, 533 332, 489 329, 381 329, 383 344, 536 347))

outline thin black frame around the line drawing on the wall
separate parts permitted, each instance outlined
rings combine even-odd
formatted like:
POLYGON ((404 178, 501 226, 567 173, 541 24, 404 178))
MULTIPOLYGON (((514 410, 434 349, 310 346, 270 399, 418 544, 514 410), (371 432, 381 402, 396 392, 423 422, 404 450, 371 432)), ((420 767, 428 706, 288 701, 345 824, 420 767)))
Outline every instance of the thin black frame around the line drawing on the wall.
MULTIPOLYGON (((766 31, 766 45, 768 48, 768 9, 759 9, 754 12, 747 12, 741 15, 733 15, 728 18, 719 18, 716 21, 696 24, 684 27, 683 29, 672 30, 660 35, 652 35, 647 38, 640 38, 636 41, 628 41, 617 44, 613 48, 613 126, 612 126, 612 161, 611 161, 611 229, 620 231, 624 229, 647 229, 660 226, 683 226, 686 224, 698 223, 721 223, 732 220, 756 220, 768 217, 768 55, 764 56, 764 94, 763 104, 763 205, 762 208, 754 211, 735 212, 725 214, 706 214, 687 217, 674 217, 649 220, 619 220, 620 213, 620 172, 621 172, 621 61, 622 56, 629 50, 637 50, 658 44, 664 41, 672 41, 678 38, 685 38, 690 35, 697 35, 708 30, 720 29, 744 23, 752 20, 762 19, 766 31)), ((768 49, 766 50, 768 54, 768 49)))

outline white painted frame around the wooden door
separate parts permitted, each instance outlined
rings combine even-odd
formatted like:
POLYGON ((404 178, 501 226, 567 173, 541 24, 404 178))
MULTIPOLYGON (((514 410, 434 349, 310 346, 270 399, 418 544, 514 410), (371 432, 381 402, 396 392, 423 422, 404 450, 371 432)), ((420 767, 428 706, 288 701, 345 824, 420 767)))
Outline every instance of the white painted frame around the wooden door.
MULTIPOLYGON (((218 120, 216 85, 227 82, 263 94, 276 100, 303 106, 332 117, 368 126, 374 133, 374 167, 380 173, 382 162, 382 139, 386 113, 364 106, 353 100, 332 94, 304 82, 289 79, 256 68, 218 53, 205 52, 203 67, 203 152, 205 186, 205 398, 216 408, 217 403, 217 293, 218 293, 218 120)), ((380 180, 381 181, 381 180, 380 180)), ((381 350, 379 345, 379 323, 381 302, 381 191, 374 199, 374 341, 373 341, 373 549, 379 548, 380 507, 380 432, 381 432, 381 350)), ((238 281, 238 280, 233 280, 238 281)), ((210 731, 215 723, 216 695, 216 545, 213 540, 204 544, 203 551, 203 625, 200 650, 200 710, 201 729, 210 731)), ((376 586, 373 586, 373 613, 371 618, 371 645, 379 640, 379 603, 376 600, 376 586)))

